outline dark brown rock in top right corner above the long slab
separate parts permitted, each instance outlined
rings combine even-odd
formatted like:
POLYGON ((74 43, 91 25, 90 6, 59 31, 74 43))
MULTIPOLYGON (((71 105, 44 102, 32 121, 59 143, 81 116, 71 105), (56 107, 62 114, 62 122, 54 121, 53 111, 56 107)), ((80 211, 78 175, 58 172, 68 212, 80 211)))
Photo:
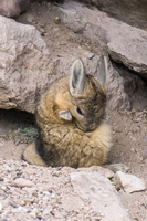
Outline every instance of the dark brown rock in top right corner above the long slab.
POLYGON ((83 0, 83 2, 95 4, 101 11, 130 25, 147 28, 146 1, 123 0, 118 3, 117 0, 83 0))

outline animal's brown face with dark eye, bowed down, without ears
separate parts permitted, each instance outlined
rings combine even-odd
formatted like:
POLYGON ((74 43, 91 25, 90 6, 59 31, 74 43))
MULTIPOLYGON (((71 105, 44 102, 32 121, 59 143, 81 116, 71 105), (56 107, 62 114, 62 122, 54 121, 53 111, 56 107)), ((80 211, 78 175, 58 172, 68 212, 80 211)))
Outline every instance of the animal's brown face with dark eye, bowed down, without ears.
POLYGON ((84 91, 72 96, 70 112, 77 127, 84 131, 95 129, 105 112, 106 95, 93 76, 86 76, 84 91))

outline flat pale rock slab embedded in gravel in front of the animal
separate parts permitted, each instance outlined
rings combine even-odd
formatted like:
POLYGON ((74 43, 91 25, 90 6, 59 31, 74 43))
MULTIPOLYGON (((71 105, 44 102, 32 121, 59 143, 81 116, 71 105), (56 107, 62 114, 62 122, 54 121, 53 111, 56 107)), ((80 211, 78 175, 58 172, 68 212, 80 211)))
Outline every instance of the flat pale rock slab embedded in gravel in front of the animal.
POLYGON ((72 172, 74 191, 88 201, 95 212, 103 214, 104 221, 130 220, 122 206, 111 181, 98 172, 72 172))

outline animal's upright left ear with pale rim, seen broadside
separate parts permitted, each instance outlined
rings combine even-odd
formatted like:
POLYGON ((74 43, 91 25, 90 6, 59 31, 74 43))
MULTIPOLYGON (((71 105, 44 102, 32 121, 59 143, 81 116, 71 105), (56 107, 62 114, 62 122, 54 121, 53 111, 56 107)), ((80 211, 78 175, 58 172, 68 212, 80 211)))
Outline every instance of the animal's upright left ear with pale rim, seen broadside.
POLYGON ((70 76, 70 92, 77 95, 85 88, 85 72, 82 61, 78 59, 74 61, 71 69, 70 76))

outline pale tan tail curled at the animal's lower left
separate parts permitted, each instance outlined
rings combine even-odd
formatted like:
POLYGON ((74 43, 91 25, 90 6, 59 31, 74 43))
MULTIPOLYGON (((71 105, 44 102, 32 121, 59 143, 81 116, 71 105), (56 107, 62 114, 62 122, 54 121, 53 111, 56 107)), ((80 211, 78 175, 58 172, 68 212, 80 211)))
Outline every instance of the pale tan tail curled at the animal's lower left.
POLYGON ((22 154, 22 159, 31 165, 39 165, 46 167, 45 162, 39 156, 35 149, 35 141, 29 145, 22 154))

